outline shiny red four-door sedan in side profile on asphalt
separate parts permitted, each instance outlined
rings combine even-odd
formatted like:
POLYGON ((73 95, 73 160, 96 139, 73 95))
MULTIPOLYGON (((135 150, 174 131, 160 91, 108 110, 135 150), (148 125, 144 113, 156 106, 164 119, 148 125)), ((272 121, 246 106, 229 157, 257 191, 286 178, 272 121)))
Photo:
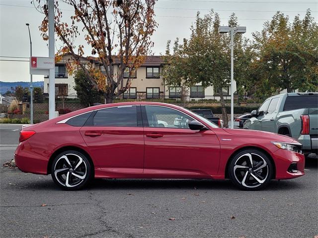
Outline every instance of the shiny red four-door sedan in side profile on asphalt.
POLYGON ((92 178, 231 179, 241 189, 303 176, 305 158, 293 138, 219 128, 191 111, 133 102, 81 109, 23 127, 17 167, 51 174, 66 190, 92 178))

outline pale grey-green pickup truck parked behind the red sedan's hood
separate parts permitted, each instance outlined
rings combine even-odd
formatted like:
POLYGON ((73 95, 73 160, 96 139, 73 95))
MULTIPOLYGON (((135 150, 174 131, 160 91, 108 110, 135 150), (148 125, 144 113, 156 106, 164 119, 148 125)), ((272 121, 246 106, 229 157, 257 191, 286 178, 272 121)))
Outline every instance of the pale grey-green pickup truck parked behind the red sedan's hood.
POLYGON ((272 96, 251 112, 243 128, 275 132, 295 138, 305 153, 318 150, 318 93, 272 96))

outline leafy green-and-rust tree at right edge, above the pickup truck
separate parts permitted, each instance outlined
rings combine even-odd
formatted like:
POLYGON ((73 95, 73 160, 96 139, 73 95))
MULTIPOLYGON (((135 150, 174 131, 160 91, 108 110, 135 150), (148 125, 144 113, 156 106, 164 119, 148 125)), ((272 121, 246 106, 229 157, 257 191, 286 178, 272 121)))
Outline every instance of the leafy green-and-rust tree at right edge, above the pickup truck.
POLYGON ((288 16, 277 12, 253 37, 258 55, 254 79, 259 92, 317 91, 318 24, 310 10, 303 20, 296 16, 292 24, 288 16))

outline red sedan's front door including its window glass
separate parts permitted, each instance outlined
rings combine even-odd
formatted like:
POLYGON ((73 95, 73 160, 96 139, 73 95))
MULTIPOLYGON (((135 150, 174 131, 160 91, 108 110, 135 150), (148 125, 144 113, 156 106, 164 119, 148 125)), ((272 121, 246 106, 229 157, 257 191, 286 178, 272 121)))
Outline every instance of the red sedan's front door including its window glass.
POLYGON ((142 106, 144 174, 158 178, 217 175, 220 142, 212 130, 189 129, 193 118, 175 109, 142 106))

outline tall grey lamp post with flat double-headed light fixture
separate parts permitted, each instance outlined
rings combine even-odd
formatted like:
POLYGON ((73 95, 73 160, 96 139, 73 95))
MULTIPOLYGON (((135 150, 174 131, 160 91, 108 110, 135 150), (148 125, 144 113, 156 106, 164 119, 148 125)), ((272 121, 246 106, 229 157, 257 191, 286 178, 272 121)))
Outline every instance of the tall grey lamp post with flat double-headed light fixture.
POLYGON ((219 33, 231 33, 231 128, 234 128, 234 34, 243 34, 246 32, 246 26, 220 26, 219 33))

